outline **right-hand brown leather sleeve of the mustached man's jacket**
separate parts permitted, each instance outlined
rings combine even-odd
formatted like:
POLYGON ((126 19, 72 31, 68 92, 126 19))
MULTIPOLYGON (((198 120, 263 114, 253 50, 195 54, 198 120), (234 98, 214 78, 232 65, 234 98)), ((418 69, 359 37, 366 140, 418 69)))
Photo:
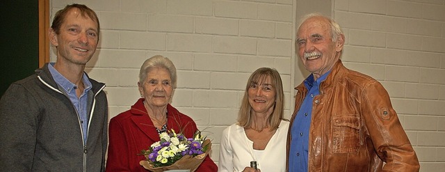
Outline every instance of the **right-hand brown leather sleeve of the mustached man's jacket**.
POLYGON ((385 88, 373 81, 364 89, 361 100, 361 112, 375 151, 386 162, 383 171, 419 171, 419 160, 385 88))

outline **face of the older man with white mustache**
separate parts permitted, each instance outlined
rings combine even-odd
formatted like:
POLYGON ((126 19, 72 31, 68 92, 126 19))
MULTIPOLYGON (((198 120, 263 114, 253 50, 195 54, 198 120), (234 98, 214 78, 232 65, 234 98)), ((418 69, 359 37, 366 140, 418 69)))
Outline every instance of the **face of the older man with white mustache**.
POLYGON ((298 56, 315 79, 334 67, 343 49, 344 36, 332 41, 331 26, 324 17, 310 17, 297 33, 298 56))

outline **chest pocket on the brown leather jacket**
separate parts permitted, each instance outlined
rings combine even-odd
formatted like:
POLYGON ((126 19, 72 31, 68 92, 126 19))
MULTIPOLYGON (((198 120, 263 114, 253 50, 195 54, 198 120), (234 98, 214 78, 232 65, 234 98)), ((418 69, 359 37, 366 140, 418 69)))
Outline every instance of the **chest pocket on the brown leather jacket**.
POLYGON ((360 118, 332 116, 332 153, 357 153, 360 146, 360 118))

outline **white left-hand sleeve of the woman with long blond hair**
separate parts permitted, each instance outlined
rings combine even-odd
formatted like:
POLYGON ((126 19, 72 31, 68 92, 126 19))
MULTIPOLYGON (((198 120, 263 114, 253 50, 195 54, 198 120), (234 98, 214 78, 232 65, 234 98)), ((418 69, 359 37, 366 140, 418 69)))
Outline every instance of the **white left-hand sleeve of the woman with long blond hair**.
POLYGON ((232 147, 229 141, 230 127, 227 127, 223 131, 223 136, 221 136, 220 143, 220 159, 218 160, 218 172, 229 172, 233 171, 233 153, 232 147))

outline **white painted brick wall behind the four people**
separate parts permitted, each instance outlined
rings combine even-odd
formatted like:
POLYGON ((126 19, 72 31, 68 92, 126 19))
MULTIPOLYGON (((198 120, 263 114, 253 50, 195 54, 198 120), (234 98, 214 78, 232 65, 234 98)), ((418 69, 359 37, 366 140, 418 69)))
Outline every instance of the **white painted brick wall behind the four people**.
MULTIPOLYGON (((53 0, 51 12, 73 2, 53 0)), ((277 68, 288 118, 293 87, 307 77, 293 52, 296 0, 75 2, 99 15, 99 48, 86 71, 106 82, 110 118, 138 99, 143 61, 167 56, 178 72, 172 104, 208 132, 215 161, 220 133, 236 121, 252 71, 277 68)), ((345 65, 387 88, 421 171, 445 169, 445 1, 332 0, 332 6, 346 35, 345 65)))

